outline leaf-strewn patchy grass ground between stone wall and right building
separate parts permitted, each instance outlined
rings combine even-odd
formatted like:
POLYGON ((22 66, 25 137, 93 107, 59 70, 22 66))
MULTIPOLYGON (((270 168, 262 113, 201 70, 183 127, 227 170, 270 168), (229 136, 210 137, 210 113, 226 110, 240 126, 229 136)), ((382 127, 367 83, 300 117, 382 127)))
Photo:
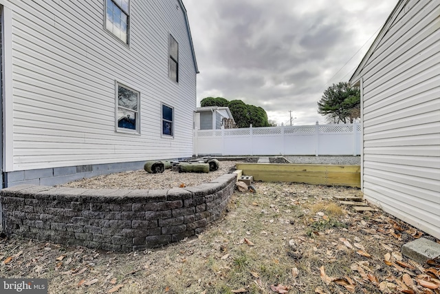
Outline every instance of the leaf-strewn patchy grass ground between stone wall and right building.
POLYGON ((114 253, 19 238, 0 240, 0 276, 46 278, 49 293, 440 293, 440 261, 401 246, 430 235, 333 196, 359 189, 254 182, 194 238, 114 253))

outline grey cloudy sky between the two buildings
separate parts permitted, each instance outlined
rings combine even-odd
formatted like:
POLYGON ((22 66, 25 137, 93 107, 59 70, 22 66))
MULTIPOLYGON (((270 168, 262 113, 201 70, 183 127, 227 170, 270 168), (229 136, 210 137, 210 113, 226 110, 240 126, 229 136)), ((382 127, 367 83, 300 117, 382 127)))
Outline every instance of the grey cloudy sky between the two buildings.
POLYGON ((289 125, 325 123, 317 102, 348 81, 397 0, 184 0, 202 98, 263 107, 289 125))

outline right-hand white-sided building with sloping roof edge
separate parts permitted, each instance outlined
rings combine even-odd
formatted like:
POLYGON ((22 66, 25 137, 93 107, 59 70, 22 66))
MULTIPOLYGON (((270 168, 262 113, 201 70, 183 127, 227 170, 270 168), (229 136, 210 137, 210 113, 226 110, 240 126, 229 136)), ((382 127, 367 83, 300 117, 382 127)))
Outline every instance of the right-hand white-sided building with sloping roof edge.
POLYGON ((350 82, 364 198, 440 238, 440 1, 400 0, 350 82))

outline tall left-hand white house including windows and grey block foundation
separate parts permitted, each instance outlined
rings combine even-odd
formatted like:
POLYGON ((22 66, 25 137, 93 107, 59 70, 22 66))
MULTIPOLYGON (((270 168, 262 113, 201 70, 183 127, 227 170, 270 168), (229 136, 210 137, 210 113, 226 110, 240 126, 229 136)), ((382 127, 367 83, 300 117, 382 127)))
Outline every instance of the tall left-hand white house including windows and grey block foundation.
POLYGON ((3 187, 192 156, 181 0, 0 0, 3 187))

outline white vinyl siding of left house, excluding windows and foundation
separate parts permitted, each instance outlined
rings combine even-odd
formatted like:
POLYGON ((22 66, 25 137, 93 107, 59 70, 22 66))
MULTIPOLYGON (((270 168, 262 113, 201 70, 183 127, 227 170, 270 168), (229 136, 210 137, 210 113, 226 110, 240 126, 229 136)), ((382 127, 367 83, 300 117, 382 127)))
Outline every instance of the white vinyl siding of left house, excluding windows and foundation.
POLYGON ((129 45, 104 29, 104 1, 13 6, 6 171, 192 156, 196 68, 182 7, 130 2, 129 45), (179 83, 168 78, 168 34, 179 43, 179 83), (140 135, 115 132, 115 81, 140 92, 140 135), (161 136, 161 103, 174 107, 174 138, 161 136))

